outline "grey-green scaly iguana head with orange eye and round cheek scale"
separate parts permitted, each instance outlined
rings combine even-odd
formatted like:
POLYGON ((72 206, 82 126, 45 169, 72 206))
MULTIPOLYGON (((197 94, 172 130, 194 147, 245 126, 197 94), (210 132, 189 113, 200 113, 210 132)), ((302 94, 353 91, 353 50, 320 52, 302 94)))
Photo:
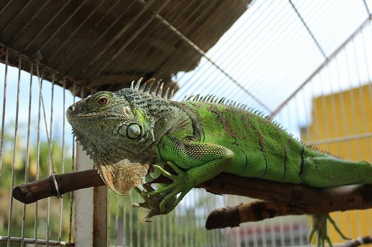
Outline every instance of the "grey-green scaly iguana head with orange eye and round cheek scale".
POLYGON ((151 150, 143 150, 155 142, 159 101, 164 104, 167 99, 154 95, 153 82, 148 80, 141 88, 139 81, 117 92, 97 92, 67 109, 74 135, 95 163, 154 156, 151 150))

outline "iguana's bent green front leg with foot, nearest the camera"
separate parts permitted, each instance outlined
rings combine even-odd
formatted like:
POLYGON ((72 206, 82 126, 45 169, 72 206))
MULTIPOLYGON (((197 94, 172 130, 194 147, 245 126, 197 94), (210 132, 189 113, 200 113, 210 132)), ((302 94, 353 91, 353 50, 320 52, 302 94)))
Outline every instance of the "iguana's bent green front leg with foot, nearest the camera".
POLYGON ((173 175, 157 167, 173 182, 164 188, 143 193, 144 196, 166 194, 160 202, 160 212, 164 212, 167 202, 180 193, 170 207, 173 210, 193 187, 225 171, 235 156, 234 152, 224 146, 184 141, 175 136, 164 136, 159 144, 159 151, 163 159, 171 161, 168 164, 177 172, 177 175, 173 175))

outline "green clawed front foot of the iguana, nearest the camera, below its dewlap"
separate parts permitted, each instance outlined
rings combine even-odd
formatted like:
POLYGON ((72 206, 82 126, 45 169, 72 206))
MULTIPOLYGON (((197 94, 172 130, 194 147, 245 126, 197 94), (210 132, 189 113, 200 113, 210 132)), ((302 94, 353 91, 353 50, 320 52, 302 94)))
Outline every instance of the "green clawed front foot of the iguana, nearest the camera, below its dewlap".
POLYGON ((173 164, 172 162, 167 162, 167 164, 175 171, 177 172, 177 175, 170 174, 163 168, 161 168, 158 165, 154 165, 155 168, 159 169, 161 173, 173 180, 173 183, 167 185, 166 187, 159 188, 154 191, 150 192, 144 192, 142 193, 143 196, 149 196, 152 197, 162 197, 162 195, 166 194, 161 200, 159 205, 159 210, 162 214, 166 214, 166 212, 170 212, 177 206, 177 204, 182 200, 182 198, 189 192, 194 186, 195 181, 192 180, 192 178, 187 174, 187 172, 182 171, 180 168, 177 167, 177 165, 173 164), (181 193, 176 200, 174 198, 181 193), (171 205, 170 202, 174 200, 171 205), (169 210, 170 209, 170 210, 169 210))

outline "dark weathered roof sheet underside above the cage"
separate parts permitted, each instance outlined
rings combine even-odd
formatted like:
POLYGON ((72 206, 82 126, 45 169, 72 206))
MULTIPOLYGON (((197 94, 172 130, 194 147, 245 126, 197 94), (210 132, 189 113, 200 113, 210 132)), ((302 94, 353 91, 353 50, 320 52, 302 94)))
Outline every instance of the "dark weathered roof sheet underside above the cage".
MULTIPOLYGON (((65 75, 83 85, 82 95, 117 90, 142 76, 162 78, 167 86, 177 87, 171 75, 194 69, 249 2, 3 1, 0 59, 5 61, 6 47, 14 66, 14 54, 32 58, 40 52, 41 63, 49 68, 45 78, 52 80, 55 69, 56 83, 65 75)), ((30 65, 22 63, 22 69, 29 71, 30 65)), ((74 93, 80 96, 80 89, 74 93)))

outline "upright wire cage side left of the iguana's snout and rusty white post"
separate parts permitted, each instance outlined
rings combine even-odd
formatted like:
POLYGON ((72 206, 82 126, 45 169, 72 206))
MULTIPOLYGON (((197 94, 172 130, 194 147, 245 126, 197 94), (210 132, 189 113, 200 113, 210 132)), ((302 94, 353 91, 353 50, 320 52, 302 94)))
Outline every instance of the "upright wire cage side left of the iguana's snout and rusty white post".
POLYGON ((50 175, 53 165, 58 173, 72 170, 73 140, 65 135, 69 127, 64 117, 71 93, 56 87, 54 81, 43 81, 44 73, 52 70, 46 72, 9 48, 3 51, 0 183, 1 218, 7 226, 1 229, 1 241, 7 246, 11 242, 68 246, 73 242, 70 197, 26 205, 13 200, 12 189, 50 175), (10 53, 17 56, 18 68, 9 65, 10 53), (21 70, 26 67, 31 73, 21 70))

